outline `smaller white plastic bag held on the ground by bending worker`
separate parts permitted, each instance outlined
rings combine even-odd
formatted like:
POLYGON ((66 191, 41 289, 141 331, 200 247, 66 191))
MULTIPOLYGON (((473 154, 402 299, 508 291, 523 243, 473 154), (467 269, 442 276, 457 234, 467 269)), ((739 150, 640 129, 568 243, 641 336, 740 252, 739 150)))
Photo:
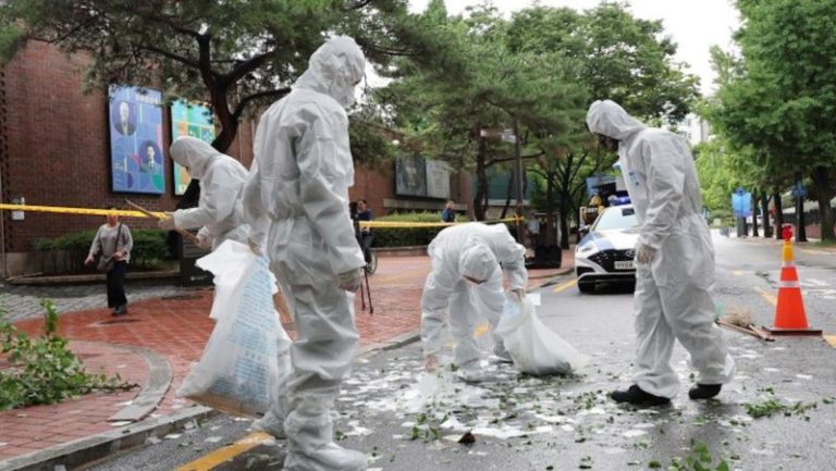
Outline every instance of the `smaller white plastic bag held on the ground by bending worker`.
POLYGON ((520 302, 515 295, 505 295, 505 312, 496 332, 524 373, 567 374, 587 364, 587 357, 538 318, 528 297, 520 302))

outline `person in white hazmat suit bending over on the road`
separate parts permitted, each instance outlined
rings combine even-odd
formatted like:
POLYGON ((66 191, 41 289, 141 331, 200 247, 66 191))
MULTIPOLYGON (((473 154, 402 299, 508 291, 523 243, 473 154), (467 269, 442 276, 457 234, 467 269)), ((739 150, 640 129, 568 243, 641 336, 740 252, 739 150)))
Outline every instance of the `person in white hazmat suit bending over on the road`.
POLYGON ((439 233, 428 248, 431 272, 421 296, 421 340, 427 370, 439 363, 441 331, 445 318, 455 339, 454 357, 465 381, 480 381, 481 352, 474 331, 481 319, 491 325, 494 354, 509 360, 502 338, 495 333, 503 313, 505 296, 502 272, 508 289, 521 299, 528 272, 526 249, 517 244, 505 224, 467 223, 439 233))

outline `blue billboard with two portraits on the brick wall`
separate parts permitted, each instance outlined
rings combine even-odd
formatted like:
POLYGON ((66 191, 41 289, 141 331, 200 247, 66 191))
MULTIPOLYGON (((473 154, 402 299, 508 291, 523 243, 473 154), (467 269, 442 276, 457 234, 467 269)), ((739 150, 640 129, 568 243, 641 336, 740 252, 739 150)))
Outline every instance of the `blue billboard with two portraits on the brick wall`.
POLYGON ((109 97, 111 189, 161 195, 165 190, 162 92, 111 86, 109 97))

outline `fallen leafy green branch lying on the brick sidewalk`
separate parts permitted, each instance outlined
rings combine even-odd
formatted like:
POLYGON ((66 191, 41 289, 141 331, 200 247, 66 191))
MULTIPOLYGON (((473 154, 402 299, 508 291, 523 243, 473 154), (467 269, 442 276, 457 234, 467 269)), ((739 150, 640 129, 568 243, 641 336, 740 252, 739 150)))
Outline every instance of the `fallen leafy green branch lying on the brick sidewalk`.
POLYGON ((58 312, 52 302, 44 299, 41 306, 45 326, 39 338, 17 332, 0 306, 0 359, 8 363, 0 369, 0 410, 57 404, 94 391, 137 387, 118 374, 87 373, 82 361, 67 348, 67 340, 58 334, 58 312))

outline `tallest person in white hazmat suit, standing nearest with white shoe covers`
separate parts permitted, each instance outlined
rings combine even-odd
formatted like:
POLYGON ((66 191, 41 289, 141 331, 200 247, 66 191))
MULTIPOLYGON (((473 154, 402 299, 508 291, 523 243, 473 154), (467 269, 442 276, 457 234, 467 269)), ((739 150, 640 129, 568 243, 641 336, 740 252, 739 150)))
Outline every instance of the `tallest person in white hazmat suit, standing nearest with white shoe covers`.
MULTIPOLYGON (((364 77, 354 39, 335 36, 311 57, 292 91, 262 115, 243 209, 254 251, 266 247, 296 321, 285 470, 365 470, 366 455, 333 441, 332 410, 358 351, 354 292, 366 264, 348 215, 354 164, 345 109, 364 77)), ((281 418, 282 411, 275 417, 281 418)))

